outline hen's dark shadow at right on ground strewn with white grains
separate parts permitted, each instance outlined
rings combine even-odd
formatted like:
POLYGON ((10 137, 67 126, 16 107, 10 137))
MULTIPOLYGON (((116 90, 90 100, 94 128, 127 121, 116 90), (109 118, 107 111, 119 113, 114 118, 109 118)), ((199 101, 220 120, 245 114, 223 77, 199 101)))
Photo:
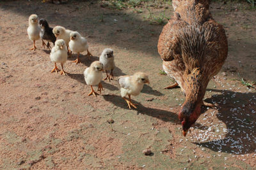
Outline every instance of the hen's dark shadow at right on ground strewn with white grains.
POLYGON ((256 152, 256 93, 232 92, 230 90, 214 90, 221 92, 205 101, 218 103, 217 118, 227 126, 225 138, 205 143, 196 143, 214 152, 246 154, 256 152))

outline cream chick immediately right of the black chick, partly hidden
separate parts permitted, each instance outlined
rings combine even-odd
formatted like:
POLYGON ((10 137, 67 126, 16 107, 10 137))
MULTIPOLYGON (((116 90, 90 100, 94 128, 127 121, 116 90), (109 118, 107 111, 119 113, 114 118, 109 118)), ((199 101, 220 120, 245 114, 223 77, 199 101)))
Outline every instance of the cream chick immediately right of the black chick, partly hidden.
MULTIPOLYGON (((70 32, 69 29, 65 29, 65 27, 56 26, 52 30, 53 34, 56 36, 56 39, 63 39, 68 48, 68 43, 70 41, 70 32)), ((69 50, 68 50, 69 51, 69 50)))

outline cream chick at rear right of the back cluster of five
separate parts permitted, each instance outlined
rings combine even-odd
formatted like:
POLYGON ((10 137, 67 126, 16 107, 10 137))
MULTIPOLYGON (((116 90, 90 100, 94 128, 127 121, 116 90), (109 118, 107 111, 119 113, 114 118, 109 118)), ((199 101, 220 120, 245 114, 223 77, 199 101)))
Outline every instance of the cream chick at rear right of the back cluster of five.
POLYGON ((92 54, 88 50, 89 46, 87 43, 87 39, 83 38, 81 34, 79 34, 79 32, 73 31, 70 33, 70 41, 68 45, 72 52, 77 52, 77 59, 72 61, 76 62, 76 64, 80 62, 79 53, 87 50, 87 55, 92 56, 92 54))

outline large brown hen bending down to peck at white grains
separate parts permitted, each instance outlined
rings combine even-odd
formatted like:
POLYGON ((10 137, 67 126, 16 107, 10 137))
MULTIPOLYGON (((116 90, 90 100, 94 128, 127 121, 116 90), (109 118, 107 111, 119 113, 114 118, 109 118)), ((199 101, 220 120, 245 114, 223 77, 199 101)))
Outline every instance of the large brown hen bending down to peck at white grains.
POLYGON ((173 0, 174 16, 158 41, 163 69, 186 96, 179 113, 183 135, 201 114, 206 87, 223 66, 227 37, 209 11, 209 0, 173 0))

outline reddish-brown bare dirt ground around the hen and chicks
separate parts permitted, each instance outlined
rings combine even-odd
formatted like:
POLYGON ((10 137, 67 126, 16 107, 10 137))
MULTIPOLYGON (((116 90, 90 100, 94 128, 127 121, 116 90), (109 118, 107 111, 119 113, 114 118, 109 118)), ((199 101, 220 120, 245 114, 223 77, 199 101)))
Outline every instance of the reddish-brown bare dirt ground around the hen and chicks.
MULTIPOLYGON (((205 94, 218 109, 204 108, 184 138, 177 118, 184 96, 179 88, 164 90, 172 81, 159 74, 163 25, 150 24, 145 7, 116 10, 100 4, 0 1, 0 169, 255 169, 256 90, 241 78, 256 81, 256 11, 212 3, 229 48, 205 94), (51 73, 54 64, 41 41, 35 52, 29 50, 26 29, 33 13, 51 27, 81 32, 93 57, 84 52, 76 65, 72 55, 64 65, 67 76, 51 73), (150 85, 132 97, 138 110, 127 108, 116 78, 104 81, 102 96, 87 96, 83 71, 104 48, 114 50, 116 77, 148 73, 150 85), (149 156, 142 153, 147 148, 149 156)), ((172 15, 171 4, 162 7, 148 9, 172 15)))

